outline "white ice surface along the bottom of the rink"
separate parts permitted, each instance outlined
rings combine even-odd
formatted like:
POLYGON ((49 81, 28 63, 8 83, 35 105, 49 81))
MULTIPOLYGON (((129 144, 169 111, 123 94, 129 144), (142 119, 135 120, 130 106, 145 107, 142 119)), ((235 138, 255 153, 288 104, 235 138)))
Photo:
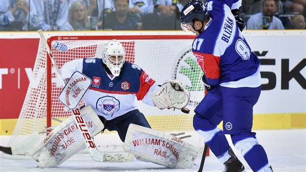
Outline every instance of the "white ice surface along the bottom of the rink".
MULTIPOLYGON (((306 129, 258 130, 256 137, 265 148, 274 172, 306 172, 306 129)), ((6 146, 9 136, 0 136, 0 145, 6 146)), ((234 152, 245 165, 247 172, 252 172, 242 155, 234 152)), ((192 169, 167 169, 163 166, 134 159, 133 162, 103 163, 90 158, 88 154, 77 154, 63 164, 40 169, 34 160, 8 159, 11 155, 1 153, 0 172, 197 172, 200 156, 192 169)), ((205 159, 203 172, 222 172, 223 165, 210 152, 205 159)))

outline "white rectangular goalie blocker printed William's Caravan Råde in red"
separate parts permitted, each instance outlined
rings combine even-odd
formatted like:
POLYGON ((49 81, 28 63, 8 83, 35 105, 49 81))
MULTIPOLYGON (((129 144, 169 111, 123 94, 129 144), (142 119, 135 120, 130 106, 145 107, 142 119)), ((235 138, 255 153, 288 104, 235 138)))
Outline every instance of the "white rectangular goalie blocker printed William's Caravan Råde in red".
POLYGON ((80 72, 74 72, 58 96, 61 103, 75 109, 91 86, 91 80, 80 72))

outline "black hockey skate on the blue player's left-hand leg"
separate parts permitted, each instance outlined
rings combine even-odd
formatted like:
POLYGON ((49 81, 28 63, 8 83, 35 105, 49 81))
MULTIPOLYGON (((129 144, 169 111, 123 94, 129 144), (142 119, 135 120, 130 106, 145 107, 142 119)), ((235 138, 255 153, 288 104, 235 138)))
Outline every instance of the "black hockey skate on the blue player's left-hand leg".
POLYGON ((224 162, 225 167, 223 172, 245 172, 243 164, 234 154, 231 147, 228 149, 228 154, 231 155, 231 157, 226 162, 224 162))

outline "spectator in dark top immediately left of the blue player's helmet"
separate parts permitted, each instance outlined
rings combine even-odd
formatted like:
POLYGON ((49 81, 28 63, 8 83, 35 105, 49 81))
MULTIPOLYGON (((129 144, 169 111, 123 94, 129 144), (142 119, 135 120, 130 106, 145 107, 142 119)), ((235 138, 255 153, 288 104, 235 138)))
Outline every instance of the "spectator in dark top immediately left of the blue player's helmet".
POLYGON ((153 5, 152 14, 143 17, 144 30, 181 30, 183 5, 178 0, 157 0, 153 5))

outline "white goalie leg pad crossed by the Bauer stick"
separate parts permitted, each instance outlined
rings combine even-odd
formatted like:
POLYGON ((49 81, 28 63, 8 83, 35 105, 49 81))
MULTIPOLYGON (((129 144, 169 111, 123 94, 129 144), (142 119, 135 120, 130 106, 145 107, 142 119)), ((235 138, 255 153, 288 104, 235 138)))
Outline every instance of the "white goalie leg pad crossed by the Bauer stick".
MULTIPOLYGON (((87 121, 91 137, 97 135, 103 128, 101 120, 90 106, 81 109, 87 121)), ((86 146, 83 136, 72 116, 57 125, 42 142, 34 146, 28 155, 37 162, 40 168, 52 168, 62 164, 72 155, 75 155, 86 146)))

